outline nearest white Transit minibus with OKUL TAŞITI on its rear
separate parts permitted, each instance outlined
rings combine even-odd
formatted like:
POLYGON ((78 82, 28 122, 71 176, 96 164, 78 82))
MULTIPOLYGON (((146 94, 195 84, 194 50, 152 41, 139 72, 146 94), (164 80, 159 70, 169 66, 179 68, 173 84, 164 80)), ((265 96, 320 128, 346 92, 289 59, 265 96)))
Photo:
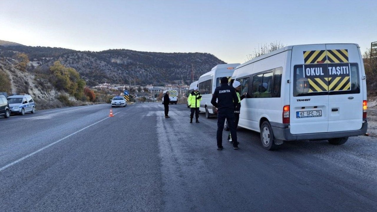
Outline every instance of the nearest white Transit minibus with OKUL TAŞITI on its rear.
POLYGON ((261 133, 267 150, 287 140, 343 144, 367 130, 366 82, 357 44, 287 46, 239 65, 238 126, 261 133))

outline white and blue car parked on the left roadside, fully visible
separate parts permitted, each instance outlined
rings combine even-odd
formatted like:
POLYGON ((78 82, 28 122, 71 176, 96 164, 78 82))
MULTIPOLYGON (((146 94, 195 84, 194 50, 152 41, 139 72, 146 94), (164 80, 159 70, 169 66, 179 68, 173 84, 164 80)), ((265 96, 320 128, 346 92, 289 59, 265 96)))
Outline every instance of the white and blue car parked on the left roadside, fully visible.
POLYGON ((13 94, 8 98, 11 113, 25 115, 27 112, 35 113, 35 103, 29 94, 13 94))

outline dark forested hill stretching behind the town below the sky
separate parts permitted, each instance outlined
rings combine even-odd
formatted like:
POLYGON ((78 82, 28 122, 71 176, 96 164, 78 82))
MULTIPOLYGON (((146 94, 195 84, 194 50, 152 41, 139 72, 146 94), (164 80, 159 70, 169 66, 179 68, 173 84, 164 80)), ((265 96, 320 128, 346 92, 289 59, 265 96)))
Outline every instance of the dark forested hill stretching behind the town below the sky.
POLYGON ((54 61, 76 69, 88 85, 96 83, 164 84, 191 82, 218 64, 225 63, 208 53, 139 52, 110 49, 101 52, 75 51, 64 48, 0 45, 0 57, 14 58, 18 53, 28 55, 29 72, 48 73, 54 61))

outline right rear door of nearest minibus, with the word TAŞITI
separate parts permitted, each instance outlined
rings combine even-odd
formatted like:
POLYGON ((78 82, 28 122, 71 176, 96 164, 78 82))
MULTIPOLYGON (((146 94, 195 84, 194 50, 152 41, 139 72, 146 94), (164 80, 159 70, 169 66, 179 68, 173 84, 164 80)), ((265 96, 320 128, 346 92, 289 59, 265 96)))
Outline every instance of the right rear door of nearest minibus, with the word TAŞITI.
POLYGON ((363 121, 362 58, 355 44, 326 44, 328 132, 358 130, 363 121))

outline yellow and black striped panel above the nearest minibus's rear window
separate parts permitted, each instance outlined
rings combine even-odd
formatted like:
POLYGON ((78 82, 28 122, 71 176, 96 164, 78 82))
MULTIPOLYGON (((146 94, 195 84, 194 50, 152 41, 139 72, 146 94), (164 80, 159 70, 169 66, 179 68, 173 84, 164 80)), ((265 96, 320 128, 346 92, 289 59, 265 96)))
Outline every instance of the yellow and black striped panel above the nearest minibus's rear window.
POLYGON ((305 64, 348 63, 348 49, 303 51, 305 64))

